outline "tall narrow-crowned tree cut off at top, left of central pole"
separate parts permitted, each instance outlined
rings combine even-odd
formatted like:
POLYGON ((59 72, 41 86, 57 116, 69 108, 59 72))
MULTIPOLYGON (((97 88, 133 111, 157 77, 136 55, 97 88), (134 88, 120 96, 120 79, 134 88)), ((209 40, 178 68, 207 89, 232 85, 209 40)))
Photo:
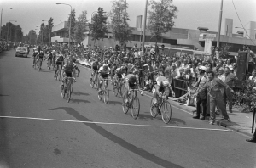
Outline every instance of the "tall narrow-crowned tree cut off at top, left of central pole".
POLYGON ((112 18, 111 27, 113 29, 113 37, 121 44, 128 42, 131 35, 131 29, 127 23, 127 20, 130 20, 126 12, 127 8, 128 4, 126 0, 113 0, 112 2, 110 15, 112 18))

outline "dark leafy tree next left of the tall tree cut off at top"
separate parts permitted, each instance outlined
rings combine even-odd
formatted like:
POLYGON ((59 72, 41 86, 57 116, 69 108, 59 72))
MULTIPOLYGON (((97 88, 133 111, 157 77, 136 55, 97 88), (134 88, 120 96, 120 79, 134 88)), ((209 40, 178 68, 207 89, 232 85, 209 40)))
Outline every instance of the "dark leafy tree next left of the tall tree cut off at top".
POLYGON ((90 25, 92 40, 103 39, 108 33, 108 28, 106 26, 108 17, 104 16, 103 8, 98 8, 97 14, 95 14, 90 25))

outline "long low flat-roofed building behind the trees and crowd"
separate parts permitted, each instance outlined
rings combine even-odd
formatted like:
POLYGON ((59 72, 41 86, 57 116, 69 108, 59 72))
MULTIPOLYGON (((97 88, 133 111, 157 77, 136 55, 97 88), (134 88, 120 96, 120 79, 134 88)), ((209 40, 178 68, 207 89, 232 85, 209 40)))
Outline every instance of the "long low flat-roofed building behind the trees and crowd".
MULTIPOLYGON (((241 49, 243 45, 250 46, 254 53, 256 53, 256 22, 250 22, 248 35, 241 30, 239 30, 237 34, 233 34, 232 19, 225 19, 223 26, 225 33, 220 35, 220 46, 228 44, 230 46, 230 53, 234 55, 236 55, 236 52, 241 49), (250 36, 250 38, 248 38, 248 36, 250 36)), ((67 21, 55 25, 52 28, 52 32, 54 33, 54 36, 52 36, 51 42, 68 42, 68 38, 65 37, 67 36, 67 21)), ((138 47, 141 47, 143 32, 136 27, 131 27, 131 32, 130 41, 126 42, 127 48, 132 48, 135 44, 137 44, 138 47)), ((103 48, 104 46, 108 48, 119 44, 119 42, 113 39, 110 25, 108 25, 108 33, 102 40, 92 40, 89 29, 85 32, 84 36, 84 41, 82 42, 84 46, 94 46, 97 44, 100 48, 103 48)), ((197 30, 173 27, 172 31, 166 32, 158 38, 158 43, 164 43, 169 47, 186 47, 211 53, 210 48, 217 45, 217 36, 217 31, 208 31, 207 27, 199 27, 197 30)), ((73 42, 75 41, 73 40, 73 42)), ((156 39, 152 38, 150 33, 146 31, 145 43, 154 45, 155 42, 156 39)))

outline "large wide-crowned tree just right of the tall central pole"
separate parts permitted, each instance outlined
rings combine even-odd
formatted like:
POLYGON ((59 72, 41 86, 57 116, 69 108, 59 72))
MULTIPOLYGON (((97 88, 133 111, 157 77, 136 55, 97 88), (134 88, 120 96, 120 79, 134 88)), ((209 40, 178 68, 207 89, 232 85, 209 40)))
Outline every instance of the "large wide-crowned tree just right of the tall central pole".
POLYGON ((157 44, 158 37, 162 33, 172 30, 173 19, 177 18, 177 7, 172 4, 172 0, 160 0, 160 2, 151 0, 149 6, 147 30, 156 39, 157 44))

